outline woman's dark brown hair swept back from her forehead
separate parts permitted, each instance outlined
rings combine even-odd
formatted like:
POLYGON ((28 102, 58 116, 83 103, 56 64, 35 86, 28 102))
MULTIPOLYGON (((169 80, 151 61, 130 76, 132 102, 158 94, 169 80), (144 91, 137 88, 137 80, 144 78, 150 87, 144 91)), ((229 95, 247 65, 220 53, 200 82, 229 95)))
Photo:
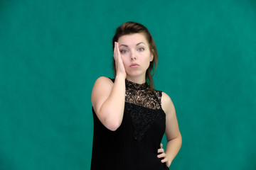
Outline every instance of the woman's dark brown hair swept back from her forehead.
MULTIPOLYGON (((117 30, 114 34, 114 37, 112 39, 113 50, 114 50, 114 42, 117 42, 118 39, 122 35, 129 35, 129 34, 133 34, 133 33, 143 33, 145 35, 146 40, 149 43, 149 50, 151 51, 151 54, 153 54, 153 56, 154 56, 153 60, 149 64, 149 68, 146 69, 146 80, 149 81, 149 86, 150 86, 150 89, 152 90, 152 89, 154 89, 154 82, 153 82, 152 77, 154 76, 154 73, 156 72, 156 66, 157 66, 157 62, 158 62, 158 54, 157 54, 154 38, 149 33, 149 30, 145 26, 143 26, 141 23, 134 23, 131 21, 123 23, 121 26, 119 26, 117 28, 117 30), (152 69, 154 69, 153 74, 151 74, 152 69)), ((113 72, 114 72, 114 77, 116 77, 117 73, 116 73, 114 58, 113 58, 113 72)))

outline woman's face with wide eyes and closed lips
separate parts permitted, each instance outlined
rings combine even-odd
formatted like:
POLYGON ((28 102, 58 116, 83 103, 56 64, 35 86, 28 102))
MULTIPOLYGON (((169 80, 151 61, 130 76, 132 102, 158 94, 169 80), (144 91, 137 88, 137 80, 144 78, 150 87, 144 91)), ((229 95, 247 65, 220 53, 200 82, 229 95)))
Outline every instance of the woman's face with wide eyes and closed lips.
POLYGON ((145 77, 146 69, 149 68, 154 57, 145 35, 143 33, 122 35, 118 43, 127 77, 145 77))

